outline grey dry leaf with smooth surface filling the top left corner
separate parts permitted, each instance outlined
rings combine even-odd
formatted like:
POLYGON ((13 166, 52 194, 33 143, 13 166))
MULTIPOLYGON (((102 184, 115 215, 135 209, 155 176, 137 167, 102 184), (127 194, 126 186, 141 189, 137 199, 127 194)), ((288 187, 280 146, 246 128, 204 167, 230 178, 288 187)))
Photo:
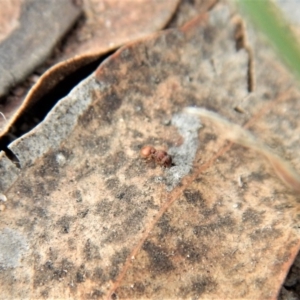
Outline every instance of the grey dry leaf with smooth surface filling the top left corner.
MULTIPOLYGON (((5 19, 0 15, 1 27, 7 27, 3 30, 5 38, 2 38, 0 47, 0 97, 3 97, 12 86, 44 62, 74 24, 80 9, 72 0, 62 3, 4 0, 1 11, 12 17, 5 19)), ((3 112, 2 107, 0 110, 3 112)))

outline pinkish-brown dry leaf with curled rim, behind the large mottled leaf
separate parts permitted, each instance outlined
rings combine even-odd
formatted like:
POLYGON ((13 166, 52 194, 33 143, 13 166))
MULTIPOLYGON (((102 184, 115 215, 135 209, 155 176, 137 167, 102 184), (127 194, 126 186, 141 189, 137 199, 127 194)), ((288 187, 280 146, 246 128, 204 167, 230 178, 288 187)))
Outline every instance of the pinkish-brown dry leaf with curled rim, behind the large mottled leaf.
POLYGON ((61 52, 50 62, 53 66, 38 79, 25 99, 17 97, 19 101, 14 101, 14 105, 0 106, 6 116, 6 120, 0 118, 1 135, 7 133, 28 106, 66 76, 126 42, 164 28, 178 3, 179 0, 84 0, 85 21, 66 39, 61 52))

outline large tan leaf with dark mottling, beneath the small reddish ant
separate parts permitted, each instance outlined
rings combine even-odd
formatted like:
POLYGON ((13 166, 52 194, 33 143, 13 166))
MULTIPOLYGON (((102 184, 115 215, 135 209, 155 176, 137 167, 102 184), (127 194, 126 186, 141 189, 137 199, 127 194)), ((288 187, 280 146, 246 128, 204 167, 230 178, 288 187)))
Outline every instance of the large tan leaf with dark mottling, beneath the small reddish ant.
POLYGON ((10 145, 21 169, 2 186, 3 299, 277 297, 299 250, 299 196, 183 113, 215 111, 300 170, 299 91, 259 43, 250 60, 240 28, 218 5, 126 45, 10 145), (174 166, 143 161, 146 144, 174 166))

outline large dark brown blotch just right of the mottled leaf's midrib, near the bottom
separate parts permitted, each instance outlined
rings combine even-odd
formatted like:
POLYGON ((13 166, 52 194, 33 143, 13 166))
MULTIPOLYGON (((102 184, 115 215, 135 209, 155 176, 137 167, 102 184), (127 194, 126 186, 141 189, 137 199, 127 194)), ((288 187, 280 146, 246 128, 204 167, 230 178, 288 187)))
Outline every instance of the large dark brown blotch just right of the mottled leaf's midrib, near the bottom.
POLYGON ((147 252, 150 259, 150 269, 156 273, 168 273, 174 270, 171 260, 163 248, 146 241, 143 250, 147 252))

